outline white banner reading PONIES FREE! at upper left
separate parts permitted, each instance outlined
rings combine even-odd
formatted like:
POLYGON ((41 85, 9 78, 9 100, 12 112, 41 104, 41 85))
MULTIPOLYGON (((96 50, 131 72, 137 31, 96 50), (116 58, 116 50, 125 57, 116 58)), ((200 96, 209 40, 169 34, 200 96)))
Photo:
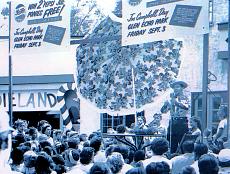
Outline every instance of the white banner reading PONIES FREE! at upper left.
POLYGON ((12 52, 63 51, 70 43, 70 8, 65 0, 13 1, 12 52))

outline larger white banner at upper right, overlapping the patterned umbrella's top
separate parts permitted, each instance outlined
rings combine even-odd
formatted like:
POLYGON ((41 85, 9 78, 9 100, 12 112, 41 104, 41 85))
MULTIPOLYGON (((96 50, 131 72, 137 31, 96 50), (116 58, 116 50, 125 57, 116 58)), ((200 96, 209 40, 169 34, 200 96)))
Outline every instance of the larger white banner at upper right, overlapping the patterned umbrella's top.
POLYGON ((122 45, 209 32, 208 0, 123 0, 122 45))

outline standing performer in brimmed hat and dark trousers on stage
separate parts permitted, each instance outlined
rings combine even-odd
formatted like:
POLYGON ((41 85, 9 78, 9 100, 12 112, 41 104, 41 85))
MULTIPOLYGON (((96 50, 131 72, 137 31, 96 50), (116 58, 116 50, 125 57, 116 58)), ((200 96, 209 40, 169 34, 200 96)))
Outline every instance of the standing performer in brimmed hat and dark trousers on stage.
POLYGON ((168 140, 170 142, 170 152, 175 153, 182 137, 188 132, 187 112, 189 109, 189 99, 184 94, 184 89, 188 84, 184 81, 176 81, 170 85, 173 92, 170 100, 166 101, 161 108, 161 113, 170 111, 170 122, 168 127, 168 140))

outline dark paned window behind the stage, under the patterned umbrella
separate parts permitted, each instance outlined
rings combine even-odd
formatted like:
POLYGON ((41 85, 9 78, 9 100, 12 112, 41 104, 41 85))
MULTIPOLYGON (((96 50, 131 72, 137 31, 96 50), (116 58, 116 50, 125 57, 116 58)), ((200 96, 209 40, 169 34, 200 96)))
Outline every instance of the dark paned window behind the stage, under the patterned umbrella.
MULTIPOLYGON (((144 111, 138 112, 137 116, 144 116, 144 111)), ((107 113, 101 113, 101 130, 107 133, 108 128, 116 130, 117 126, 123 124, 130 127, 135 122, 135 115, 114 116, 107 113)))

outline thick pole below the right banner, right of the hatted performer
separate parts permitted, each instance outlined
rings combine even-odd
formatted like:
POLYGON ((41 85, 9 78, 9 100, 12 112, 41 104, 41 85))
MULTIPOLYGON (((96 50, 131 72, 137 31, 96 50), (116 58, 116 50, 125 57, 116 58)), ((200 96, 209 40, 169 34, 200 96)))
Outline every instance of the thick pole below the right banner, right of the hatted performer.
POLYGON ((209 34, 203 35, 203 79, 202 79, 202 142, 203 132, 207 128, 207 93, 208 93, 208 56, 209 34))

